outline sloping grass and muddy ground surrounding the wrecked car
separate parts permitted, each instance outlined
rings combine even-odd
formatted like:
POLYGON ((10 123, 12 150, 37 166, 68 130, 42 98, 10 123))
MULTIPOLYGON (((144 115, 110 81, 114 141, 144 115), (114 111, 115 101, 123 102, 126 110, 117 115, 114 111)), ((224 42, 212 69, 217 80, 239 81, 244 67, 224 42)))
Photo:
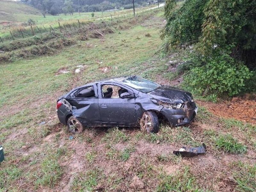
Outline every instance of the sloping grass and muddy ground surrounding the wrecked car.
POLYGON ((159 52, 162 15, 118 20, 100 38, 71 34, 65 38, 74 44, 52 54, 0 64, 0 191, 255 191, 256 126, 215 116, 204 101, 196 100, 190 126, 163 124, 157 134, 100 127, 72 135, 58 122, 58 97, 105 77, 136 74, 179 86, 176 64, 189 50, 159 52), (172 154, 203 142, 204 156, 172 154))

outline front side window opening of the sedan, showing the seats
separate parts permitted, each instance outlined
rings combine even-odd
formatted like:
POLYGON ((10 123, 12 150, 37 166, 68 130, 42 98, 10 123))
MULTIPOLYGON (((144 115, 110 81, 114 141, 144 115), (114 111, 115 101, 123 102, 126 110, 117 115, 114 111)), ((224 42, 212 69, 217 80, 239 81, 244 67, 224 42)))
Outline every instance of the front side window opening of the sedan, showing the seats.
POLYGON ((121 98, 121 95, 129 94, 127 89, 117 85, 101 85, 102 98, 121 98))

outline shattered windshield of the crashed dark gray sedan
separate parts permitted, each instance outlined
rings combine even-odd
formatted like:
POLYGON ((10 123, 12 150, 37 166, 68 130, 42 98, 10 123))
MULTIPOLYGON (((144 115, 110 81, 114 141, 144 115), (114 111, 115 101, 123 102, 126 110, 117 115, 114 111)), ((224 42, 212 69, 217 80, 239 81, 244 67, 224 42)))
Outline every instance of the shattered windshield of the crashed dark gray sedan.
POLYGON ((122 83, 134 88, 134 89, 137 89, 141 92, 144 92, 144 93, 148 93, 148 92, 151 92, 155 89, 157 89, 158 87, 160 87, 161 85, 159 84, 156 84, 152 81, 149 81, 147 79, 143 79, 141 77, 138 77, 138 76, 132 76, 132 77, 128 77, 126 79, 124 79, 122 81, 122 83))

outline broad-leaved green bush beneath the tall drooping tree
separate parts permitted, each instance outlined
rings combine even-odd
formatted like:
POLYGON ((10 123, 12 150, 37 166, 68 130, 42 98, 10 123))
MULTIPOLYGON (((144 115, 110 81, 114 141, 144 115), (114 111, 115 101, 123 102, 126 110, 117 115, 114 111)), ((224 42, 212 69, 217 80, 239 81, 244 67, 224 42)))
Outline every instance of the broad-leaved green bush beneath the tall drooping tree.
POLYGON ((191 69, 184 77, 183 86, 197 95, 233 96, 244 88, 244 81, 250 79, 252 73, 241 63, 236 63, 227 53, 215 57, 198 60, 202 67, 191 69), (204 64, 206 63, 206 64, 204 64))

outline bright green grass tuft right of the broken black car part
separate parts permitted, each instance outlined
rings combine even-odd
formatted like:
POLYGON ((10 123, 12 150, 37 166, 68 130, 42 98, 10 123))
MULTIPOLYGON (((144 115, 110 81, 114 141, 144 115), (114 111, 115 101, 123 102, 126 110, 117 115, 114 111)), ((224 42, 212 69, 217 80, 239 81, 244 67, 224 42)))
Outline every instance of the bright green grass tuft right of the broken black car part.
POLYGON ((243 154, 247 151, 247 147, 234 139, 230 134, 220 135, 217 137, 216 147, 229 153, 243 154))

